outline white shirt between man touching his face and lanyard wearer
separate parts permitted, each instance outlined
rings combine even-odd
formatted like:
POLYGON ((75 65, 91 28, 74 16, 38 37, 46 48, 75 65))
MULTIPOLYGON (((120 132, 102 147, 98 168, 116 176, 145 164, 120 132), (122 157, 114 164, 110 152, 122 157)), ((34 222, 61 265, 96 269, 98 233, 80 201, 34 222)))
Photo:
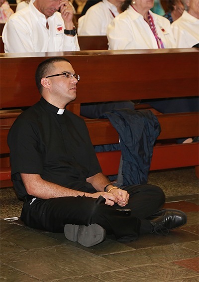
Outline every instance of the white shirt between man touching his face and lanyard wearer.
POLYGON ((106 35, 108 24, 118 15, 117 7, 108 0, 91 6, 78 20, 78 35, 106 35))

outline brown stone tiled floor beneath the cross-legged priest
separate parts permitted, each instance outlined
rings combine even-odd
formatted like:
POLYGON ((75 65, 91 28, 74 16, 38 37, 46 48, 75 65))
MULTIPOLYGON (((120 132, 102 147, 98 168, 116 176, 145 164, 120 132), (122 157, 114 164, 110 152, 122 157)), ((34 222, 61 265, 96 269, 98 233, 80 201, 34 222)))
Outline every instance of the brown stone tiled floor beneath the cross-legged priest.
POLYGON ((198 195, 180 199, 170 196, 165 207, 185 211, 188 223, 168 236, 125 244, 108 236, 91 248, 1 219, 0 282, 199 282, 198 195))

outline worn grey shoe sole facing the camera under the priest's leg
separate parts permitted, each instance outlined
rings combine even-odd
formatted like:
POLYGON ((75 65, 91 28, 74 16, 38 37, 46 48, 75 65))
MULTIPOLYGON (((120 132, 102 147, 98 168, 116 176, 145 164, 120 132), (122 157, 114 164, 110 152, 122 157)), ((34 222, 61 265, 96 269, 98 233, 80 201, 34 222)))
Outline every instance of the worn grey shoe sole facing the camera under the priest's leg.
POLYGON ((105 230, 98 224, 89 226, 66 224, 64 234, 68 240, 78 242, 85 247, 92 247, 101 243, 106 236, 105 230))

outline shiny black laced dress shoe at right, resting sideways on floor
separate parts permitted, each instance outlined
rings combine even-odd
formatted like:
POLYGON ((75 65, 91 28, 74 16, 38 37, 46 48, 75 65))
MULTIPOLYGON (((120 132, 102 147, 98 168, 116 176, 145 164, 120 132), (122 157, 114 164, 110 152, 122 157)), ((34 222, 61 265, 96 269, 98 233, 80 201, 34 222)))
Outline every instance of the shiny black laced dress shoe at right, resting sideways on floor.
POLYGON ((169 230, 178 228, 187 223, 187 215, 181 211, 165 211, 164 215, 151 220, 151 233, 167 235, 169 230))

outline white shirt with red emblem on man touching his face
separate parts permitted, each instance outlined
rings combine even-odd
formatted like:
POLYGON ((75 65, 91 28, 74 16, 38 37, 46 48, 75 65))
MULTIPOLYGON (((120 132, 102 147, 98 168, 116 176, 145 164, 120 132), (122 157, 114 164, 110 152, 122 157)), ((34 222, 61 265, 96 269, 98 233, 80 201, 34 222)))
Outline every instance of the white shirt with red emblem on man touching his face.
POLYGON ((2 40, 6 53, 15 52, 54 52, 79 51, 77 35, 64 34, 64 20, 61 13, 55 12, 48 17, 49 29, 46 27, 46 17, 32 1, 29 5, 14 13, 6 22, 2 40))

